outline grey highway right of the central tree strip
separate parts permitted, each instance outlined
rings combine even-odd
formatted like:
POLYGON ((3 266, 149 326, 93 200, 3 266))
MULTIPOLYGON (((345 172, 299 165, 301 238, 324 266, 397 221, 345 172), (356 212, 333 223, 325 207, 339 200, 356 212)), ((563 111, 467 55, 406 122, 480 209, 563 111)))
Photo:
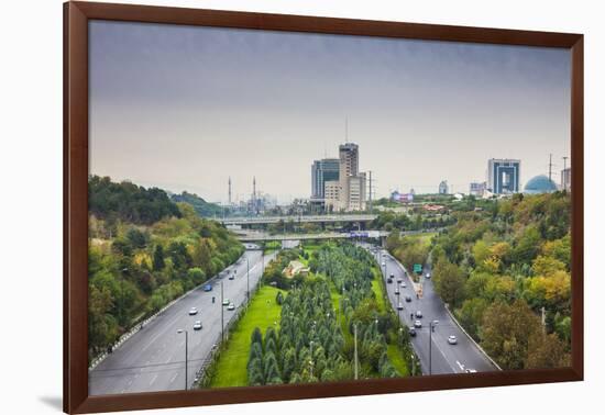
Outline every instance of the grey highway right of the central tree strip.
POLYGON ((385 283, 385 285, 391 304, 395 312, 398 313, 404 326, 413 326, 416 319, 420 319, 422 323, 422 327, 416 329, 416 337, 411 337, 411 344, 416 355, 420 359, 424 374, 465 373, 466 370, 476 370, 477 372, 497 370, 448 314, 443 301, 433 290, 432 279, 426 278, 427 272, 430 272, 429 266, 425 266, 422 277, 420 278, 422 296, 417 299, 413 281, 406 276, 405 269, 399 261, 384 249, 378 250, 375 254, 375 258, 381 265, 385 279, 387 276, 394 274, 393 283, 385 283), (385 262, 385 267, 382 266, 383 261, 385 262), (402 279, 406 283, 406 288, 402 288, 400 283, 397 283, 398 279, 402 279), (397 287, 399 288, 399 295, 395 294, 397 287), (406 295, 411 298, 411 302, 405 301, 406 295), (404 305, 404 310, 402 311, 397 310, 399 296, 402 298, 400 304, 404 305), (410 316, 410 313, 416 313, 417 311, 422 313, 422 318, 410 316), (429 322, 432 321, 438 321, 439 323, 437 323, 431 336, 429 322), (457 337, 457 345, 448 343, 450 335, 457 337), (432 343, 429 343, 430 339, 432 339, 432 343), (430 349, 429 345, 431 345, 430 349))

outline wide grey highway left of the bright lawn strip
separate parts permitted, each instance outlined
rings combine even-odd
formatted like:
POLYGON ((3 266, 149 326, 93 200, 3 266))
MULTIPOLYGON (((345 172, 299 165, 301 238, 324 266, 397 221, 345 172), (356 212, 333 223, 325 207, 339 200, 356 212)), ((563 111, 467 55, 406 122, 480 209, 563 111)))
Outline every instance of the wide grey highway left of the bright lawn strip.
MULTIPOLYGON (((285 246, 295 246, 290 242, 285 246)), ((208 358, 213 345, 220 341, 221 310, 223 324, 237 314, 221 306, 221 283, 224 298, 237 307, 245 303, 248 281, 246 267, 250 261, 250 290, 260 280, 263 262, 266 266, 275 257, 263 257, 261 250, 246 250, 237 263, 230 266, 212 280, 212 291, 201 287, 190 292, 162 315, 129 338, 89 372, 90 395, 134 392, 173 391, 189 388, 197 370, 208 358), (263 262, 262 262, 263 261, 263 262), (234 276, 229 280, 229 276, 234 276), (212 302, 215 298, 215 302, 212 302), (197 315, 189 315, 191 307, 197 315), (201 321, 202 328, 194 330, 194 323, 201 321), (188 337, 188 373, 185 380, 185 333, 188 337)))

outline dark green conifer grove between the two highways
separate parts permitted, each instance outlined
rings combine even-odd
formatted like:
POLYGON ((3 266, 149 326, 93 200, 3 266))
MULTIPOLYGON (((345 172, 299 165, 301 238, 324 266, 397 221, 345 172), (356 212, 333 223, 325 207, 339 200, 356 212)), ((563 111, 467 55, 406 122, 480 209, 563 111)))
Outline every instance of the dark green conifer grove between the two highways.
POLYGON ((409 356, 407 330, 398 330, 395 314, 378 305, 384 300, 372 289, 372 256, 348 243, 323 244, 309 258, 312 274, 287 283, 278 272, 299 254, 282 251, 265 270, 263 280, 287 294, 276 299, 282 304, 279 329, 268 327, 263 336, 256 328, 252 334, 249 384, 354 379, 354 327, 360 378, 404 375, 392 364, 387 348, 404 347, 409 356))

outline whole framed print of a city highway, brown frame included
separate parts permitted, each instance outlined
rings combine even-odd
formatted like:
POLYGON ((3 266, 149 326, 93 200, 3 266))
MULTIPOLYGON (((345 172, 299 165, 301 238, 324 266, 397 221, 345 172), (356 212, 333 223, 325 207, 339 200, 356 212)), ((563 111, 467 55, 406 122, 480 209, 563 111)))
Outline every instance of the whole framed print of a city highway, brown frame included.
POLYGON ((583 379, 582 35, 64 12, 65 412, 583 379))

